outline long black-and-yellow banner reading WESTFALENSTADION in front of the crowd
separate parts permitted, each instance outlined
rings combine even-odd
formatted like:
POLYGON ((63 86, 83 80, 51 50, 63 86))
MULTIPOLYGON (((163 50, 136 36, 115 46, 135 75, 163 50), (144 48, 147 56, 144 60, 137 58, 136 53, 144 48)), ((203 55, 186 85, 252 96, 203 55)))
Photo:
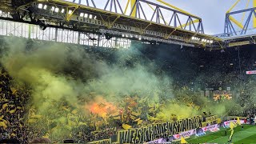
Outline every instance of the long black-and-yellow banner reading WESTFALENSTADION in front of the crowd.
MULTIPOLYGON (((211 120, 212 118, 210 118, 211 120)), ((202 127, 203 118, 201 115, 180 119, 176 122, 153 123, 140 128, 128 130, 118 130, 118 143, 143 143, 154 141, 158 138, 169 137, 179 134, 182 131, 197 129, 202 127)))

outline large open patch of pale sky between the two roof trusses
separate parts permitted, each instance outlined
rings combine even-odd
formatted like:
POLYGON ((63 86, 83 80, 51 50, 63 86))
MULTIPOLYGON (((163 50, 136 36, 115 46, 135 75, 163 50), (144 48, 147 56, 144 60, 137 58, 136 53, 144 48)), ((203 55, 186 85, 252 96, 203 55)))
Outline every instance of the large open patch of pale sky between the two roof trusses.
MULTIPOLYGON (((243 0, 244 1, 244 0, 243 0)), ((166 0, 202 18, 202 24, 206 34, 222 34, 226 11, 234 4, 234 0, 166 0)))

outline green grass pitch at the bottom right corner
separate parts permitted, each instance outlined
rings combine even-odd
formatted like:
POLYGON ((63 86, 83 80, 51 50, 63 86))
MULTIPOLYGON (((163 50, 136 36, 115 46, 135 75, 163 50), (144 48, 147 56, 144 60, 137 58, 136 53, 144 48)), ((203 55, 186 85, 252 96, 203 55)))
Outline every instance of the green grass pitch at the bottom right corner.
MULTIPOLYGON (((228 138, 230 137, 230 131, 227 131, 225 135, 224 128, 221 128, 220 131, 216 133, 207 132, 206 136, 200 138, 188 138, 186 139, 189 143, 228 143, 228 138)), ((227 129, 229 130, 229 129, 227 129)), ((256 126, 244 125, 237 126, 234 129, 233 141, 232 143, 255 143, 256 144, 256 126)))

